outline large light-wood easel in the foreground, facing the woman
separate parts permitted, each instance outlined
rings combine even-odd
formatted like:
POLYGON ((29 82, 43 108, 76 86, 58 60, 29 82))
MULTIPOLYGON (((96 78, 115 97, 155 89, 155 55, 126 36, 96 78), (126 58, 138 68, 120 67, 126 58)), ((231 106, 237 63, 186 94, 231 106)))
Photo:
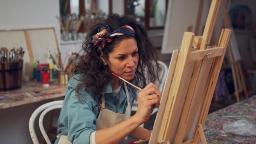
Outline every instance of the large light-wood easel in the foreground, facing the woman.
POLYGON ((220 3, 212 0, 203 36, 185 32, 173 52, 149 144, 206 144, 203 126, 231 33, 222 29, 218 46, 209 46, 220 3))

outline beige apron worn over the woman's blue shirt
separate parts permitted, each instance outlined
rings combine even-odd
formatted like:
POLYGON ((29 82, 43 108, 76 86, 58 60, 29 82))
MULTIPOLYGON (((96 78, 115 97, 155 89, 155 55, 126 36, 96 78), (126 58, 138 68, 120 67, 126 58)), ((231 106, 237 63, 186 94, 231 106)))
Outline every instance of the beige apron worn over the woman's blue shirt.
MULTIPOLYGON (((102 129, 105 129, 108 127, 112 127, 130 117, 131 104, 130 104, 130 100, 129 100, 129 92, 128 92, 125 82, 124 82, 124 85, 125 85, 125 92, 126 92, 126 98, 127 98, 127 107, 126 107, 125 114, 119 114, 119 113, 112 112, 111 110, 105 109, 105 97, 104 97, 104 94, 102 94, 103 95, 102 96, 102 108, 104 108, 104 109, 101 109, 99 112, 99 116, 97 118, 97 124, 96 124, 97 130, 102 130, 102 129)), ((57 135, 57 138, 60 135, 61 134, 57 135)), ((71 144, 71 142, 68 140, 67 135, 61 135, 61 138, 60 138, 58 144, 71 144)))

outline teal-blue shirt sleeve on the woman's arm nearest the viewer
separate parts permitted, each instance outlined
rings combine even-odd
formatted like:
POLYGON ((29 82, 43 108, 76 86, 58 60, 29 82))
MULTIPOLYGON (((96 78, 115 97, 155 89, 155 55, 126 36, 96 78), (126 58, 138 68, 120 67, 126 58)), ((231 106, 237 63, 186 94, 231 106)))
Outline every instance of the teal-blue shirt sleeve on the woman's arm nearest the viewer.
POLYGON ((58 133, 67 134, 71 143, 90 144, 90 134, 96 131, 96 113, 93 107, 96 105, 90 93, 79 90, 85 101, 79 101, 76 97, 76 83, 70 82, 67 85, 66 96, 61 108, 58 133))

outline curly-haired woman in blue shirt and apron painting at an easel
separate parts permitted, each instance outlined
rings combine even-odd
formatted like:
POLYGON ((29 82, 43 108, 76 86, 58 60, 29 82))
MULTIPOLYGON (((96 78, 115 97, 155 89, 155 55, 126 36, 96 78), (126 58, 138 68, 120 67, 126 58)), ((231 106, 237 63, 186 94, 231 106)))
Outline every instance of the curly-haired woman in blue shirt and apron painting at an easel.
POLYGON ((92 27, 83 51, 84 60, 73 67, 75 75, 67 84, 55 144, 116 144, 128 135, 149 138, 151 131, 139 126, 159 107, 162 94, 153 83, 146 84, 156 80, 160 68, 145 29, 129 17, 110 14, 92 27), (142 90, 137 95, 137 89, 112 72, 142 90), (137 98, 138 110, 130 117, 137 98))

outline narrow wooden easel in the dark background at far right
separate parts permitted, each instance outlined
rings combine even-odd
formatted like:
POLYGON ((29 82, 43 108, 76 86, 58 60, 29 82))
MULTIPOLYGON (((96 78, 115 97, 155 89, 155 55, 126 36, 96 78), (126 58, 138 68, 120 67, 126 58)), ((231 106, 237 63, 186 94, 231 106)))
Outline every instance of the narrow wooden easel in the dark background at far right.
MULTIPOLYGON (((229 3, 229 0, 227 0, 227 3, 229 3)), ((227 6, 228 6, 228 4, 226 4, 226 6, 224 6, 224 27, 227 29, 230 29, 230 28, 232 28, 232 24, 230 22, 229 14, 227 13, 227 9, 226 9, 227 6)), ((248 98, 247 89, 245 87, 245 82, 244 82, 244 75, 243 75, 243 72, 241 69, 241 63, 240 63, 241 57, 239 56, 240 58, 235 60, 234 55, 233 55, 234 53, 232 52, 231 44, 229 43, 229 45, 227 47, 228 47, 231 70, 232 70, 234 87, 235 87, 234 95, 236 96, 236 101, 239 102, 240 95, 242 96, 242 92, 244 92, 245 98, 248 98)), ((239 51, 237 53, 238 53, 238 55, 240 55, 239 51)))

